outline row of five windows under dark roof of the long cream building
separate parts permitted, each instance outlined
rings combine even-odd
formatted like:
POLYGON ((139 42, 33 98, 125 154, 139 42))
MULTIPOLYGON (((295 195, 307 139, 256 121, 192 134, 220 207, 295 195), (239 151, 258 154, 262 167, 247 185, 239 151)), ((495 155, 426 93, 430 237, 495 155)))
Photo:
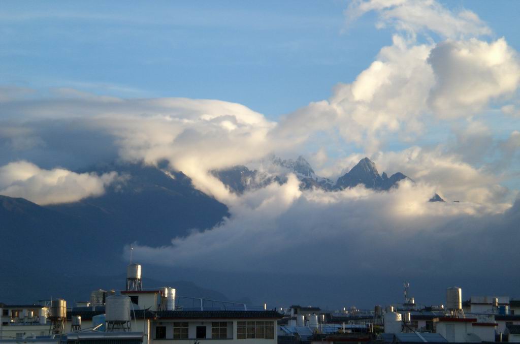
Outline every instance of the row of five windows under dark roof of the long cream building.
MULTIPOLYGON (((188 339, 189 324, 187 322, 173 323, 173 339, 188 339)), ((206 338, 206 326, 197 326, 198 339, 206 338)), ((211 323, 211 338, 228 338, 227 322, 211 323)), ((237 323, 237 339, 274 339, 274 322, 272 321, 239 321, 237 323)), ((155 327, 155 339, 166 339, 166 326, 155 327)))

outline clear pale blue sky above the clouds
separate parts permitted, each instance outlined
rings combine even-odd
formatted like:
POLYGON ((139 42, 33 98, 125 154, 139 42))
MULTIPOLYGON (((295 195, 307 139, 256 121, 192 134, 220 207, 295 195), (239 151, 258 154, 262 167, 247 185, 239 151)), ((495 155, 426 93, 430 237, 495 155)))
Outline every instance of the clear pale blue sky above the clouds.
MULTIPOLYGON (((121 97, 210 98, 276 119, 352 82, 392 33, 344 1, 19 2, 0 6, 0 84, 121 97)), ((520 49, 515 1, 474 10, 520 49)))

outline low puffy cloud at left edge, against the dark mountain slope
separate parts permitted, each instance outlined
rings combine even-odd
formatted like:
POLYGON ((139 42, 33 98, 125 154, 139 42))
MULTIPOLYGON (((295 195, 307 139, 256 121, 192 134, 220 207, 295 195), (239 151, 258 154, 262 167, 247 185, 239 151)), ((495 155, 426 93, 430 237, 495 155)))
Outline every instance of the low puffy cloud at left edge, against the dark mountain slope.
POLYGON ((43 170, 27 161, 0 167, 0 195, 22 197, 39 205, 75 202, 100 196, 117 173, 75 173, 64 169, 43 170))

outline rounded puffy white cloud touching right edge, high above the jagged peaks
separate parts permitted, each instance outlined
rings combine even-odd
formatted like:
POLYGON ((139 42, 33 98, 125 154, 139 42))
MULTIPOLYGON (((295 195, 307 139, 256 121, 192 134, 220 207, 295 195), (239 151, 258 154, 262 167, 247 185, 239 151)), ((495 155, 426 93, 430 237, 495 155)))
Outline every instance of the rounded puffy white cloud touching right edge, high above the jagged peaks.
POLYGON ((520 82, 516 52, 503 38, 441 42, 428 62, 436 78, 430 103, 443 118, 478 113, 490 100, 511 95, 520 82))

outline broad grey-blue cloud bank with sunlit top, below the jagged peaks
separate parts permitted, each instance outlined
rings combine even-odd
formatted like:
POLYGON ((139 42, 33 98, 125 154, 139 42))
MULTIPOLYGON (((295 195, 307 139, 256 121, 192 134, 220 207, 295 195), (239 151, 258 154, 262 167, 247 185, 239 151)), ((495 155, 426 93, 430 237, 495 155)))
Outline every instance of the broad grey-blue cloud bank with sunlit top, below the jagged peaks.
MULTIPOLYGON (((134 244, 134 257, 141 262, 226 271, 250 271, 255 266, 255 271, 269 272, 290 266, 291 273, 330 275, 341 265, 354 274, 363 269, 374 274, 395 272, 396 266, 417 273, 414 269, 421 257, 433 254, 439 262, 443 260, 439 255, 454 247, 466 252, 468 246, 461 248, 458 240, 478 233, 486 242, 494 235, 486 224, 497 221, 492 206, 428 202, 434 190, 402 182, 389 193, 362 187, 336 193, 301 192, 292 177, 287 184, 244 194, 241 202, 231 206, 231 218, 210 231, 174 238, 166 247, 134 244), (399 264, 393 252, 403 247, 410 261, 399 264), (328 261, 338 263, 323 264, 322 251, 328 261), (261 262, 258 257, 263 257, 261 262)), ((430 262, 420 270, 435 276, 436 269, 430 262)))

